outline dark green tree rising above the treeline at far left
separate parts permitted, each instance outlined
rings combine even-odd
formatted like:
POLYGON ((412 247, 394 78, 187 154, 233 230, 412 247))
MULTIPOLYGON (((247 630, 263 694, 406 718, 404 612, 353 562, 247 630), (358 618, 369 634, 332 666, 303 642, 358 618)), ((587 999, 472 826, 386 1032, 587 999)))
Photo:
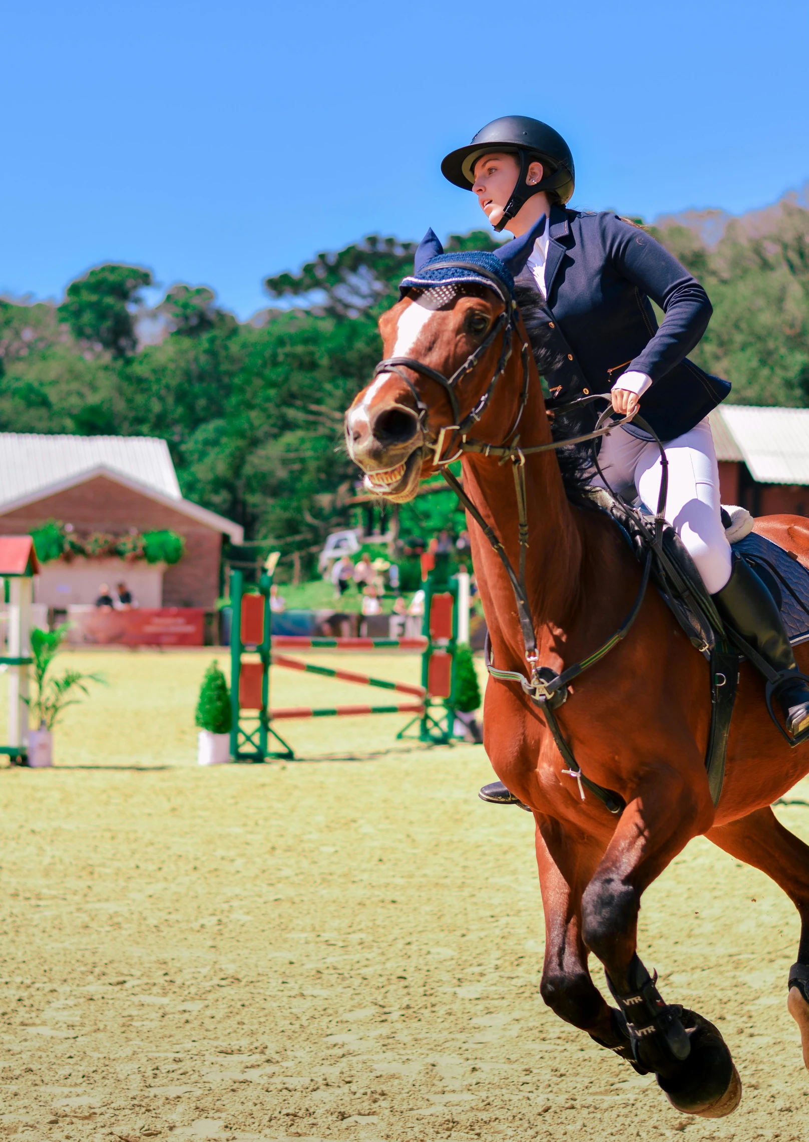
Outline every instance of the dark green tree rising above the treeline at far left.
POLYGON ((67 287, 59 320, 78 340, 107 349, 113 357, 124 357, 137 346, 132 308, 140 300, 140 289, 151 284, 148 270, 98 266, 67 287))

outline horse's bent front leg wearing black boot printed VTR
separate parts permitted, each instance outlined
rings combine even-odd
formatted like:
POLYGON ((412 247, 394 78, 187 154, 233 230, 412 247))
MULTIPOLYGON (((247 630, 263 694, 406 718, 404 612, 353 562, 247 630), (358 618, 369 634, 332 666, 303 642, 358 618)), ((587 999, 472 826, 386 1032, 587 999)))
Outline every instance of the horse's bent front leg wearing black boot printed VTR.
POLYGON ((688 774, 658 764, 628 804, 582 896, 582 938, 604 964, 636 1061, 654 1071, 683 1113, 720 1118, 742 1084, 718 1029, 668 1005, 637 952, 640 896, 688 841, 710 825, 710 803, 688 774))

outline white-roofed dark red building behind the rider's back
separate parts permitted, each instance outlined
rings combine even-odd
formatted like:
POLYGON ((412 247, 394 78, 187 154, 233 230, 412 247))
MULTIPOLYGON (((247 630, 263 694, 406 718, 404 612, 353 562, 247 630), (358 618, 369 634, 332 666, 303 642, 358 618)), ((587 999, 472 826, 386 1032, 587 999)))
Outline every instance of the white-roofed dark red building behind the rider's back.
POLYGON ((720 404, 711 413, 722 502, 809 515, 809 409, 720 404))

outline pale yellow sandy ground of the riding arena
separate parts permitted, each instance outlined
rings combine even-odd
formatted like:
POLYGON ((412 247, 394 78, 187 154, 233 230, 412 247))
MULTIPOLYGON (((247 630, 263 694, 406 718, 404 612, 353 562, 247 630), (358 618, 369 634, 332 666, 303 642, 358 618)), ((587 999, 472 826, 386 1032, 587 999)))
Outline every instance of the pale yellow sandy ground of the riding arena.
MULTIPOLYGON (((645 898, 641 956, 745 1084, 730 1118, 685 1118, 542 1004, 532 822, 476 798, 480 748, 397 743, 395 716, 301 722, 317 761, 200 770, 209 659, 71 656, 110 686, 68 713, 54 770, 0 770, 0 1133, 809 1137, 798 922, 760 874, 697 842, 645 898)), ((363 693, 284 675, 277 701, 363 693)), ((809 836, 809 807, 778 812, 809 836)))

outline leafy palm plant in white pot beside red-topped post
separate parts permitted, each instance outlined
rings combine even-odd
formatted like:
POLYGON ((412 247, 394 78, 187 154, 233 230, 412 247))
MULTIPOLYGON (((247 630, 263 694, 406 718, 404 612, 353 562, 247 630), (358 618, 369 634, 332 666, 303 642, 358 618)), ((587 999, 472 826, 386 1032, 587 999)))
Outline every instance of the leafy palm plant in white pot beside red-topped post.
POLYGON ((83 674, 68 667, 58 677, 50 673, 50 666, 67 636, 68 625, 63 622, 55 630, 31 632, 31 658, 33 659, 34 694, 23 699, 37 725, 29 731, 29 765, 41 769, 54 764, 54 726, 68 706, 87 697, 89 682, 104 682, 99 674, 83 674))

